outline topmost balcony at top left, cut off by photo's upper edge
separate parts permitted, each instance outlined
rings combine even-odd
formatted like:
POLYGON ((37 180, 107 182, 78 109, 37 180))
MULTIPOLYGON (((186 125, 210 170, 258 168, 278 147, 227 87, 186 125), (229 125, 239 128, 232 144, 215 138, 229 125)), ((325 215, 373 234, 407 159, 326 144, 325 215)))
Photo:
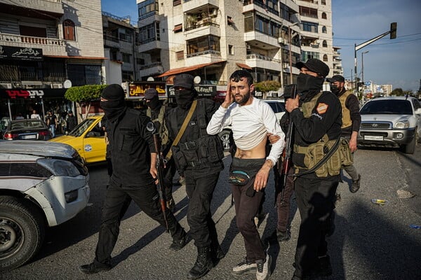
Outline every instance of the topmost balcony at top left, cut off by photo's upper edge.
POLYGON ((55 18, 60 18, 61 15, 65 13, 65 11, 63 10, 61 0, 4 0, 1 1, 0 5, 3 4, 6 4, 7 6, 14 6, 13 8, 1 8, 3 13, 8 13, 11 15, 20 15, 22 13, 25 13, 25 15, 27 16, 27 13, 29 11, 30 16, 32 18, 39 18, 41 14, 39 12, 34 11, 38 10, 48 13, 48 15, 41 15, 42 18, 48 18, 48 16, 51 15, 55 18), (16 6, 18 6, 18 8, 15 8, 16 6))

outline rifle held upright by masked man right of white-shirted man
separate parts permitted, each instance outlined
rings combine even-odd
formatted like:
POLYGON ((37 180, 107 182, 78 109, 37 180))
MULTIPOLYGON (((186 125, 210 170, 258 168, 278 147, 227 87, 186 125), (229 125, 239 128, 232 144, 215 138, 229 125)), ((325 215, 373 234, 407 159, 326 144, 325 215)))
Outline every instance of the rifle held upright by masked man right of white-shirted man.
MULTIPOLYGON (((295 96, 297 95, 297 85, 296 84, 286 85, 283 92, 284 92, 283 98, 285 99, 285 101, 288 98, 295 99, 295 96)), ((282 164, 282 170, 281 170, 281 176, 283 176, 281 203, 283 202, 283 195, 285 194, 285 186, 288 179, 288 172, 289 172, 289 169, 291 168, 290 159, 291 159, 292 142, 293 142, 292 141, 293 140, 293 127, 294 127, 293 122, 289 120, 288 131, 286 132, 286 139, 285 139, 285 149, 283 150, 285 154, 283 155, 283 164, 282 164)))

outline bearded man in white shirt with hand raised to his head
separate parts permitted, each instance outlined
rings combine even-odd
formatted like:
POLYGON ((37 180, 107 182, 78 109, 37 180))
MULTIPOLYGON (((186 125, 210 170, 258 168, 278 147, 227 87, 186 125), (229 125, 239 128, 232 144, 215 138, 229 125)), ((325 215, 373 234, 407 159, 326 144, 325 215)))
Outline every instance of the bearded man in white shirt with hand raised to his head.
POLYGON ((236 153, 230 167, 230 186, 234 196, 236 224, 243 235, 246 258, 232 269, 232 273, 255 273, 258 280, 269 278, 271 258, 265 253, 254 216, 257 214, 262 189, 267 185, 269 172, 283 151, 285 135, 274 111, 265 102, 251 96, 253 76, 238 70, 229 77, 227 95, 210 120, 208 134, 218 134, 232 125, 236 153), (278 135, 266 156, 267 136, 278 135))

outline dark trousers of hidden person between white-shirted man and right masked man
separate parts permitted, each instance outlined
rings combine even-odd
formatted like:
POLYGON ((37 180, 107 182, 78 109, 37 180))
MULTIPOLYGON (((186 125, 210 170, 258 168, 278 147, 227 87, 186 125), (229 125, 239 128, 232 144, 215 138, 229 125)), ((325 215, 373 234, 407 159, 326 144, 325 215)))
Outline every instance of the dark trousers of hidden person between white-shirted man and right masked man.
POLYGON ((285 174, 279 175, 278 170, 274 170, 275 190, 276 190, 276 211, 278 213, 278 223, 276 230, 286 232, 288 228, 288 218, 290 212, 290 200, 294 193, 294 169, 288 170, 285 186, 283 186, 285 174), (283 197, 282 197, 282 189, 283 197))

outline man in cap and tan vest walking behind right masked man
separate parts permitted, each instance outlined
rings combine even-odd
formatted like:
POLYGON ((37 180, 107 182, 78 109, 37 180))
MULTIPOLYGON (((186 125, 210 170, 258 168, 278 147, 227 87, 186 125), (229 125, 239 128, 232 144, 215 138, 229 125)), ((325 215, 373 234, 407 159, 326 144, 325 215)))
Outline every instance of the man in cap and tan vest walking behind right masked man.
POLYGON ((344 165, 342 168, 351 176, 352 185, 349 190, 356 193, 360 188, 361 174, 354 167, 353 154, 356 151, 356 137, 358 136, 361 125, 361 115, 359 113, 359 101, 355 94, 345 89, 345 78, 335 75, 326 79, 330 83, 330 91, 336 94, 342 106, 342 127, 341 137, 349 142, 350 165, 344 165))

